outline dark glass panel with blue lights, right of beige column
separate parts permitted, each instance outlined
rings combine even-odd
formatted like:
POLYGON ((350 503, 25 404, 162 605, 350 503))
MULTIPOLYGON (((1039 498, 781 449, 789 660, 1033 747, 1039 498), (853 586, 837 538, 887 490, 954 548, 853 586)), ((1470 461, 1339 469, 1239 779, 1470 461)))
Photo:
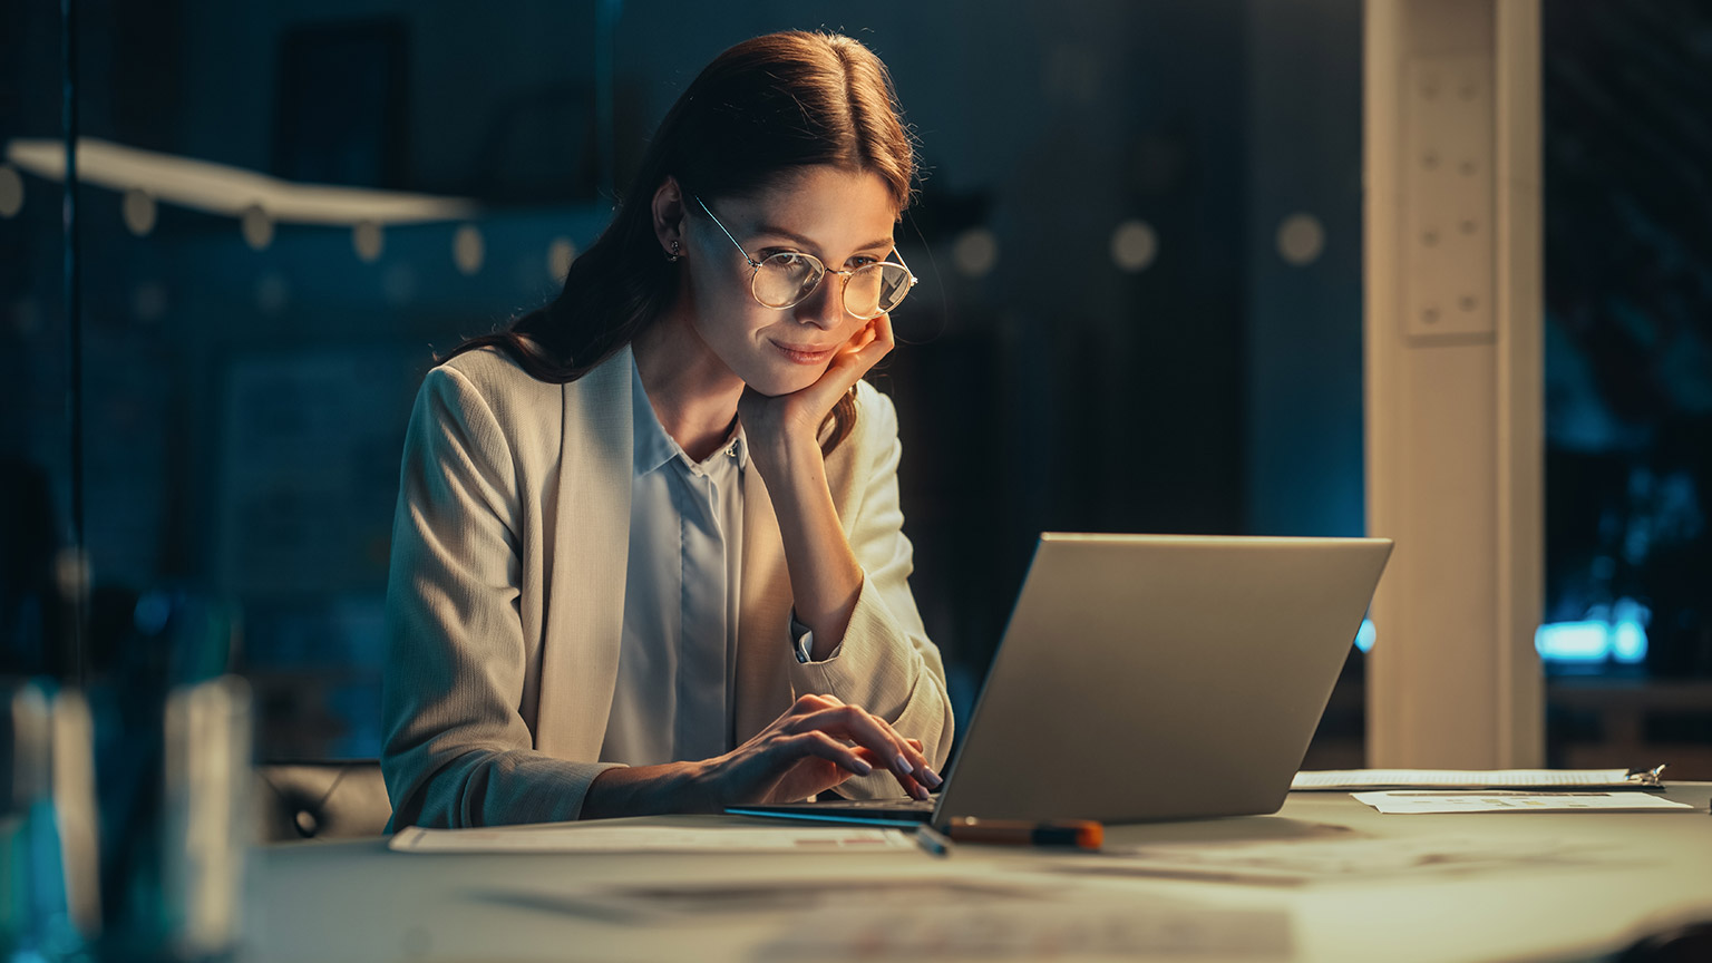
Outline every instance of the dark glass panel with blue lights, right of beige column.
POLYGON ((1669 761, 1705 780, 1712 10, 1546 3, 1543 17, 1551 759, 1669 761))

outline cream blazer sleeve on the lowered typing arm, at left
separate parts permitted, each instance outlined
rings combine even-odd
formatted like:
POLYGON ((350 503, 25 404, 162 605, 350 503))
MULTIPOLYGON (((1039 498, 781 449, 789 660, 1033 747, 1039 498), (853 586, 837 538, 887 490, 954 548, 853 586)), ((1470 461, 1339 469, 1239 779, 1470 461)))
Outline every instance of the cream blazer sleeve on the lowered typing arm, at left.
POLYGON ((428 374, 404 440, 387 579, 382 771, 392 828, 577 819, 599 763, 534 751, 519 706, 519 468, 488 401, 428 374))

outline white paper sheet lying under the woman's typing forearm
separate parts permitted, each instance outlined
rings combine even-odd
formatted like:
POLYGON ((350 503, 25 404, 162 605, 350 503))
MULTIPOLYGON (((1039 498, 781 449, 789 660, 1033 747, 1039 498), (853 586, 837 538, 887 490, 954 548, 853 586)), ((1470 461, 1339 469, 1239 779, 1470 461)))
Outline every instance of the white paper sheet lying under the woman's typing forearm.
POLYGON ((401 829, 389 848, 406 853, 781 853, 916 852, 897 829, 859 826, 527 826, 498 829, 401 829))

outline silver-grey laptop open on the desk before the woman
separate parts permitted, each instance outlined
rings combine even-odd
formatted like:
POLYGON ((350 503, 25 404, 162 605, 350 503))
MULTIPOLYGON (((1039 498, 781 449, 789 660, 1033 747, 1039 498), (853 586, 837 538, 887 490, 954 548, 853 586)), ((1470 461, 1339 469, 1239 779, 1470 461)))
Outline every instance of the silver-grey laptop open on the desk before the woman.
POLYGON ((935 799, 726 812, 882 826, 1277 812, 1390 550, 1043 533, 935 799))

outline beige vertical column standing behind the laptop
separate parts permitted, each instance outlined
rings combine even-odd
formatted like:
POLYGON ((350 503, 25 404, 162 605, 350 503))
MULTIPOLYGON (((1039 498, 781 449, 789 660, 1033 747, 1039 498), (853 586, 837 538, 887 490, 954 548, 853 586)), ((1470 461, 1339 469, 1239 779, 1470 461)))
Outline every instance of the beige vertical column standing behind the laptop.
POLYGON ((1368 0, 1368 761, 1543 761, 1539 2, 1368 0))

